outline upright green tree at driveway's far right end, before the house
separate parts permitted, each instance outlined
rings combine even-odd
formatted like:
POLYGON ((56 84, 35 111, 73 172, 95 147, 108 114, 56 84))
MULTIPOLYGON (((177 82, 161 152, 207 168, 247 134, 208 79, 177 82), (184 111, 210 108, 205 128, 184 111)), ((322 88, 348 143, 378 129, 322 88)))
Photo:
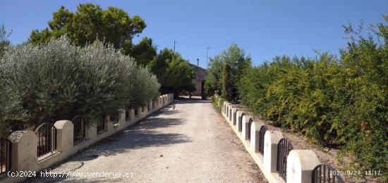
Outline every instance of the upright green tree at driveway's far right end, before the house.
POLYGON ((237 88, 243 70, 250 68, 250 60, 250 56, 245 56, 245 51, 235 43, 219 55, 210 58, 207 66, 208 75, 205 80, 205 92, 211 95, 214 91, 219 91, 222 96, 227 96, 230 100, 230 93, 237 88), (229 68, 225 70, 226 63, 229 64, 229 68), (224 70, 229 74, 223 75, 224 70), (224 86, 224 84, 227 84, 227 86, 224 86), (224 94, 227 91, 229 91, 229 94, 224 94))

